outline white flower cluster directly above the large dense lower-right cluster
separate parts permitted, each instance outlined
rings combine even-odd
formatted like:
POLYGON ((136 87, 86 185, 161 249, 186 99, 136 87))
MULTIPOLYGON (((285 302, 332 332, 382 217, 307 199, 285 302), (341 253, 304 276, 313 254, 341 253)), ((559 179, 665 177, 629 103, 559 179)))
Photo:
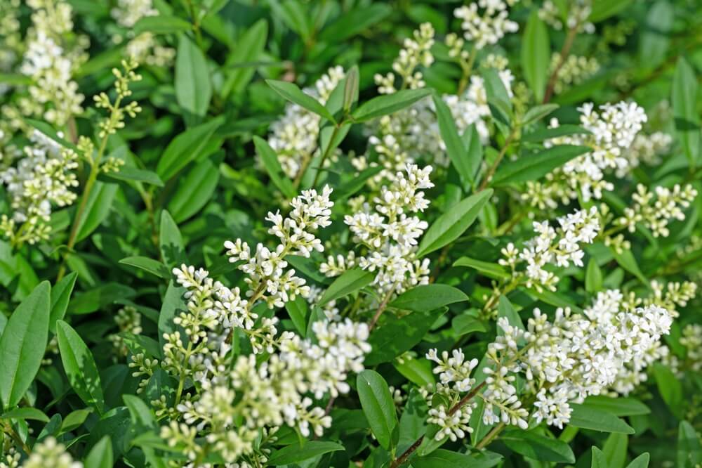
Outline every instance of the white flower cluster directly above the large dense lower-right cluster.
POLYGON ((504 256, 498 263, 511 268, 515 273, 517 264, 524 262, 525 284, 537 291, 544 288, 555 291, 558 277, 546 266, 567 267, 569 264, 583 266, 585 252, 581 244, 590 244, 600 232, 600 217, 595 207, 577 210, 558 219, 559 227, 553 228, 547 221, 534 222, 534 232, 521 252, 510 242, 501 252, 504 256))

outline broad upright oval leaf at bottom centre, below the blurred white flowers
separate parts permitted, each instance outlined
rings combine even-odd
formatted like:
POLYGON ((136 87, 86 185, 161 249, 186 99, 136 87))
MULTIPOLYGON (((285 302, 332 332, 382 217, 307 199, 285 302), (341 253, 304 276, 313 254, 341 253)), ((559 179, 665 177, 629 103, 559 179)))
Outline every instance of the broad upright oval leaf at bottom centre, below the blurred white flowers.
POLYGON ((366 369, 357 376, 356 387, 373 435, 381 447, 390 450, 397 414, 388 384, 378 372, 366 369))

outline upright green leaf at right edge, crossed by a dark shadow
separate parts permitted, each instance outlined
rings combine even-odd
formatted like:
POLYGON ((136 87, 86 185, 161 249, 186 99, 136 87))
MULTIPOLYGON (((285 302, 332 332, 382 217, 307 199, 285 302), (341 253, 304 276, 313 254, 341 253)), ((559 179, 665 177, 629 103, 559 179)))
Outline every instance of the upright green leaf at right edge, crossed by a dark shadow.
POLYGON ((700 153, 700 118, 697 113, 697 75, 683 57, 677 60, 673 75, 673 117, 690 167, 700 153))

